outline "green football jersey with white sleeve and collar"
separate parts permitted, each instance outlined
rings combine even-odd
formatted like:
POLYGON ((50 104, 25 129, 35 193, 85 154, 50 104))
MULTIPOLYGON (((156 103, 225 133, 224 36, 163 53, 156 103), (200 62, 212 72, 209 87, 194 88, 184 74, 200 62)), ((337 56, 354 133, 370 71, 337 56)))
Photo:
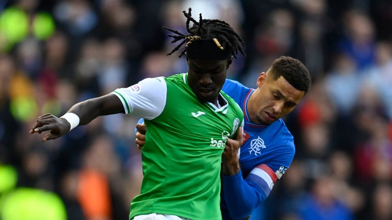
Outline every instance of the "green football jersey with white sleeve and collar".
POLYGON ((187 73, 144 79, 113 94, 127 114, 143 117, 148 127, 141 194, 131 203, 130 219, 150 213, 221 219, 221 156, 243 120, 235 101, 221 91, 222 107, 200 102, 187 85, 187 73))

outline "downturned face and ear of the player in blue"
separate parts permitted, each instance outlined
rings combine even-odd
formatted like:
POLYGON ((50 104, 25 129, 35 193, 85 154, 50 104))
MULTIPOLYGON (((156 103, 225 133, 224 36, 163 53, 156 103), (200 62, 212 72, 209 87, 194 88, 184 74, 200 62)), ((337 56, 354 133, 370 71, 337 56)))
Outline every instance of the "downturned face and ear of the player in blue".
POLYGON ((291 86, 283 76, 274 80, 270 70, 260 74, 257 79, 258 89, 248 102, 248 113, 254 123, 271 124, 284 117, 305 95, 304 91, 291 86))

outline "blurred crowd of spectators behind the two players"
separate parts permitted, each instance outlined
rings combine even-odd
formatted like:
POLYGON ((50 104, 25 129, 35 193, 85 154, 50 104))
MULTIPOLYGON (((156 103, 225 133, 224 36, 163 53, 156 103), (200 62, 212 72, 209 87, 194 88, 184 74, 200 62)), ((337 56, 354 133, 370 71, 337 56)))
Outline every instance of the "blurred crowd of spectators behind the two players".
POLYGON ((128 219, 142 179, 137 119, 100 117, 45 143, 29 130, 42 114, 186 72, 161 27, 186 33, 189 7, 246 42, 229 78, 255 88, 282 55, 312 75, 285 118, 296 156, 253 219, 392 219, 387 0, 0 0, 0 219, 128 219))

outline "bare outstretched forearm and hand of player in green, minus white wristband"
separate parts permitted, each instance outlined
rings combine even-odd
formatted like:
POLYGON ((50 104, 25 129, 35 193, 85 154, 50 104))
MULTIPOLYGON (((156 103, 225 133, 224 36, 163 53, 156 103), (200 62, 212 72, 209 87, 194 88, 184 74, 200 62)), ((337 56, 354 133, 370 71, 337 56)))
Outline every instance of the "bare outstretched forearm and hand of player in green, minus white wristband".
MULTIPOLYGON (((68 112, 79 116, 79 125, 86 125, 98 116, 125 113, 121 101, 113 94, 79 102, 72 106, 68 112)), ((57 139, 67 133, 69 129, 70 124, 67 120, 48 113, 38 117, 37 123, 30 130, 30 133, 50 131, 50 133, 47 133, 42 138, 42 141, 47 141, 57 139)))

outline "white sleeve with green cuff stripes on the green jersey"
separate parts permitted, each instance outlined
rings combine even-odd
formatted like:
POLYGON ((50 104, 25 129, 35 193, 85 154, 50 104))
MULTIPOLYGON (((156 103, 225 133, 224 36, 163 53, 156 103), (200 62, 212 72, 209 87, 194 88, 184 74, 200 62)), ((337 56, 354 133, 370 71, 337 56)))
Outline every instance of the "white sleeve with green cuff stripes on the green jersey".
POLYGON ((146 78, 128 88, 116 89, 126 114, 152 120, 165 108, 167 87, 164 77, 146 78))

